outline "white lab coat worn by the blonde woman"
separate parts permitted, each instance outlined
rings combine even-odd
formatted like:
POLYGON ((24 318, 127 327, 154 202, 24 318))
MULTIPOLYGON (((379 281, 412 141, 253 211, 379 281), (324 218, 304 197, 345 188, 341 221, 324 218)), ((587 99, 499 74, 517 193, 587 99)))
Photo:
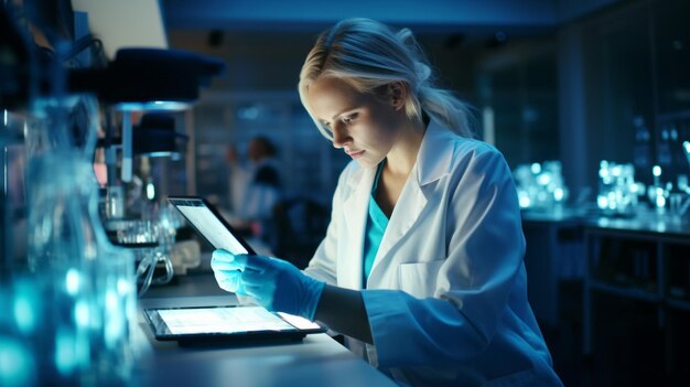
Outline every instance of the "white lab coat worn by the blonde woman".
MULTIPOLYGON (((306 275, 363 289, 375 173, 356 162, 343 171, 306 275)), ((365 357, 402 385, 562 385, 527 301, 524 254, 503 155, 430 122, 363 291, 365 357)))

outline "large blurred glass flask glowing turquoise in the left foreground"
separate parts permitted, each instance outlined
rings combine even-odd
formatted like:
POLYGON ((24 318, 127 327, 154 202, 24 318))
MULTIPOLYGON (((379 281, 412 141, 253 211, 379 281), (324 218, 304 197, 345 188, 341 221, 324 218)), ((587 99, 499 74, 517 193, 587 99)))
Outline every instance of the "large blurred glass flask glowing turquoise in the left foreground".
MULTIPOLYGON (((26 330, 37 385, 127 385, 136 327, 133 256, 110 244, 98 213, 90 96, 36 101, 28 128, 26 330)), ((19 289, 19 290, 18 290, 19 289)), ((22 297, 22 287, 12 298, 22 297)))

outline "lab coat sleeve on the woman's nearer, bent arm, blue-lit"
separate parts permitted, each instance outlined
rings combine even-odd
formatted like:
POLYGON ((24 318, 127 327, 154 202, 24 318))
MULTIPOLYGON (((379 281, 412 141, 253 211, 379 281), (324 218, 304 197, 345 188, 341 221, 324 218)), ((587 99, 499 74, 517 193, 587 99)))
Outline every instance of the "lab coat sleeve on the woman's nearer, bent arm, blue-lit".
POLYGON ((363 291, 378 366, 472 358, 488 346, 505 312, 525 251, 510 171, 500 153, 482 151, 453 189, 434 297, 363 291))

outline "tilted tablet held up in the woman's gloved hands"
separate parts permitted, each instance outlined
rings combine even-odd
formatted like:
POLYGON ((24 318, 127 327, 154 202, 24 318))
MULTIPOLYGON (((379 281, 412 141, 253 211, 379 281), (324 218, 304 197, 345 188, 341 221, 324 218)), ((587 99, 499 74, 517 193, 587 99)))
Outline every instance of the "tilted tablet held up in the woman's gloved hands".
POLYGON ((225 222, 220 213, 201 196, 169 196, 168 201, 214 248, 234 255, 256 255, 255 250, 225 222))

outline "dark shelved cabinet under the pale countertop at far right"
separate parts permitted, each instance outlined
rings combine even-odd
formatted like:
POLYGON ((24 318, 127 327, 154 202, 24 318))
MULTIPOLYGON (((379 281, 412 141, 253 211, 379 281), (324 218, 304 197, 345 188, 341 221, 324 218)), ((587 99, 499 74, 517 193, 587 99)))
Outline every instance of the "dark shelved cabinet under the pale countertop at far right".
POLYGON ((642 347, 644 364, 658 366, 650 372, 657 373, 654 377, 661 373, 671 383, 688 380, 683 373, 690 357, 690 336, 684 332, 690 320, 690 226, 600 221, 585 225, 584 244, 584 354, 595 352, 596 331, 613 322, 611 326, 626 332, 614 345, 642 347), (599 308, 606 298, 605 308, 599 308), (607 314, 608 322, 597 314, 607 314))

